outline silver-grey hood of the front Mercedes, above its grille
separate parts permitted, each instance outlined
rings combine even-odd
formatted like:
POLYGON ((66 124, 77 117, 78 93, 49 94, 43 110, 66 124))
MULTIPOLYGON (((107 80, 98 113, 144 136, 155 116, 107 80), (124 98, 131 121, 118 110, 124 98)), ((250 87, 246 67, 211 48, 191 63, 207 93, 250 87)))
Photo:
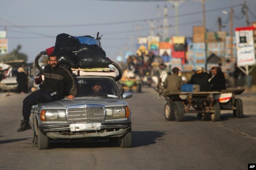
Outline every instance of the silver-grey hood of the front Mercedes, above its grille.
POLYGON ((124 106, 122 99, 108 99, 99 97, 62 99, 54 102, 40 103, 39 108, 42 109, 65 109, 68 106, 84 105, 84 104, 100 104, 105 107, 124 106))

